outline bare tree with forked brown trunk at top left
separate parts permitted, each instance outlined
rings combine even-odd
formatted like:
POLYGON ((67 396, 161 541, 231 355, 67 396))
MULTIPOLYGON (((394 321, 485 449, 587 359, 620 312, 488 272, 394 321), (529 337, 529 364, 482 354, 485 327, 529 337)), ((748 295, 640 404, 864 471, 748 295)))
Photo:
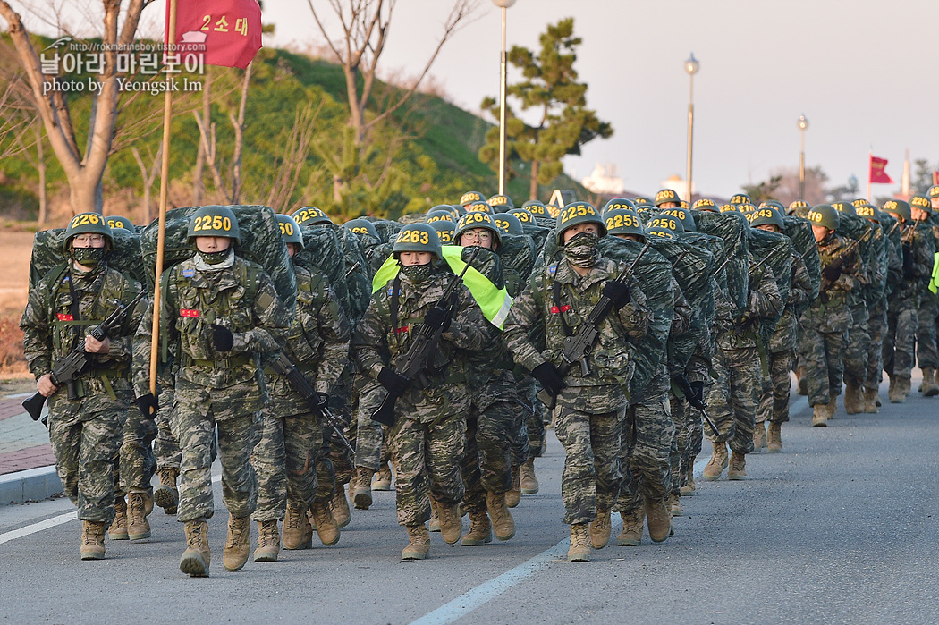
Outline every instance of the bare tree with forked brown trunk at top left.
POLYGON ((39 116, 49 144, 69 181, 69 200, 75 213, 101 211, 101 178, 112 152, 119 89, 117 48, 130 45, 135 37, 141 12, 154 0, 128 0, 123 23, 118 27, 121 0, 101 0, 104 10, 101 35, 104 68, 102 69, 87 129, 85 149, 78 145, 77 133, 69 114, 65 93, 54 88, 56 76, 42 73, 39 56, 20 15, 6 0, 0 0, 0 16, 8 23, 8 32, 19 56, 20 65, 32 87, 39 116), (51 88, 52 87, 52 88, 51 88))

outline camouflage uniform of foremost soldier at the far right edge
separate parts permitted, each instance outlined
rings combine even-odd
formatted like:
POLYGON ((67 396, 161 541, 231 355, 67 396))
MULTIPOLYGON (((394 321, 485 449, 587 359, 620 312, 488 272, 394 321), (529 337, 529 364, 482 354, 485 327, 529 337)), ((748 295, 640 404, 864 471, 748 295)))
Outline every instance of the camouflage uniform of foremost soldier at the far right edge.
MULTIPOLYGON (((913 369, 916 330, 919 327, 918 308, 932 275, 933 242, 931 233, 913 225, 901 226, 901 238, 911 234, 910 251, 903 252, 909 260, 903 262, 903 280, 897 284, 887 305, 887 330, 884 340, 884 371, 891 379, 909 380, 913 369)), ((905 247, 905 246, 904 246, 905 247)), ((901 259, 901 261, 904 259, 901 259)))

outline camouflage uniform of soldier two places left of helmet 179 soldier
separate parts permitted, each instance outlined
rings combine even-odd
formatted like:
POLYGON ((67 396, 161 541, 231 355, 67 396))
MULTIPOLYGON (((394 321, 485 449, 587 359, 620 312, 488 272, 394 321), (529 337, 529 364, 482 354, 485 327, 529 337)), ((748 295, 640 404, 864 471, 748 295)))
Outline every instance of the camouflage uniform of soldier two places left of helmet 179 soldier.
POLYGON ((707 391, 708 412, 720 436, 714 442, 729 442, 731 450, 747 454, 753 450, 753 429, 760 401, 762 346, 759 324, 763 318, 777 317, 784 306, 773 271, 756 267, 749 277, 749 297, 743 319, 731 317, 731 302, 715 291, 717 330, 714 369, 715 384, 707 391))

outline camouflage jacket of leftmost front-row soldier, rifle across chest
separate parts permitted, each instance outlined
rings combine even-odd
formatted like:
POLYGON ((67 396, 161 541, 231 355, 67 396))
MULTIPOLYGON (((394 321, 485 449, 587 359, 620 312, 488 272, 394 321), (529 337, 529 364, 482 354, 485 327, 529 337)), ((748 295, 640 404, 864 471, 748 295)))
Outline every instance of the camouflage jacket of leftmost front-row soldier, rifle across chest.
MULTIPOLYGON (((52 372, 59 359, 68 356, 74 346, 84 344, 91 327, 115 312, 118 303, 130 303, 142 290, 140 282, 104 263, 88 272, 53 268, 30 291, 20 321, 30 372, 37 379, 52 372), (72 291, 78 299, 77 317, 72 291)), ((76 385, 79 397, 85 398, 83 409, 127 409, 131 401, 132 338, 145 309, 146 301, 139 302, 118 327, 111 329, 107 354, 89 355, 91 369, 76 385)), ((49 398, 49 409, 54 411, 59 402, 69 402, 62 389, 49 398)))

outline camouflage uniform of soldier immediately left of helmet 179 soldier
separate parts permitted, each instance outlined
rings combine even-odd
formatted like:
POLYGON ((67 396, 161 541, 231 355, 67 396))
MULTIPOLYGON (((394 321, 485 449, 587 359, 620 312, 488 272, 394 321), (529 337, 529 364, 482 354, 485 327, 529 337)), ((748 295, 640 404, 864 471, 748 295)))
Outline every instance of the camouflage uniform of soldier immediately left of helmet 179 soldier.
POLYGON ((757 423, 765 421, 784 423, 789 420, 789 391, 792 386, 789 371, 793 367, 797 339, 794 311, 807 304, 811 294, 808 268, 800 254, 793 252, 792 262, 793 278, 790 282, 786 309, 779 317, 767 350, 769 374, 762 377, 762 395, 760 405, 757 407, 757 423))

